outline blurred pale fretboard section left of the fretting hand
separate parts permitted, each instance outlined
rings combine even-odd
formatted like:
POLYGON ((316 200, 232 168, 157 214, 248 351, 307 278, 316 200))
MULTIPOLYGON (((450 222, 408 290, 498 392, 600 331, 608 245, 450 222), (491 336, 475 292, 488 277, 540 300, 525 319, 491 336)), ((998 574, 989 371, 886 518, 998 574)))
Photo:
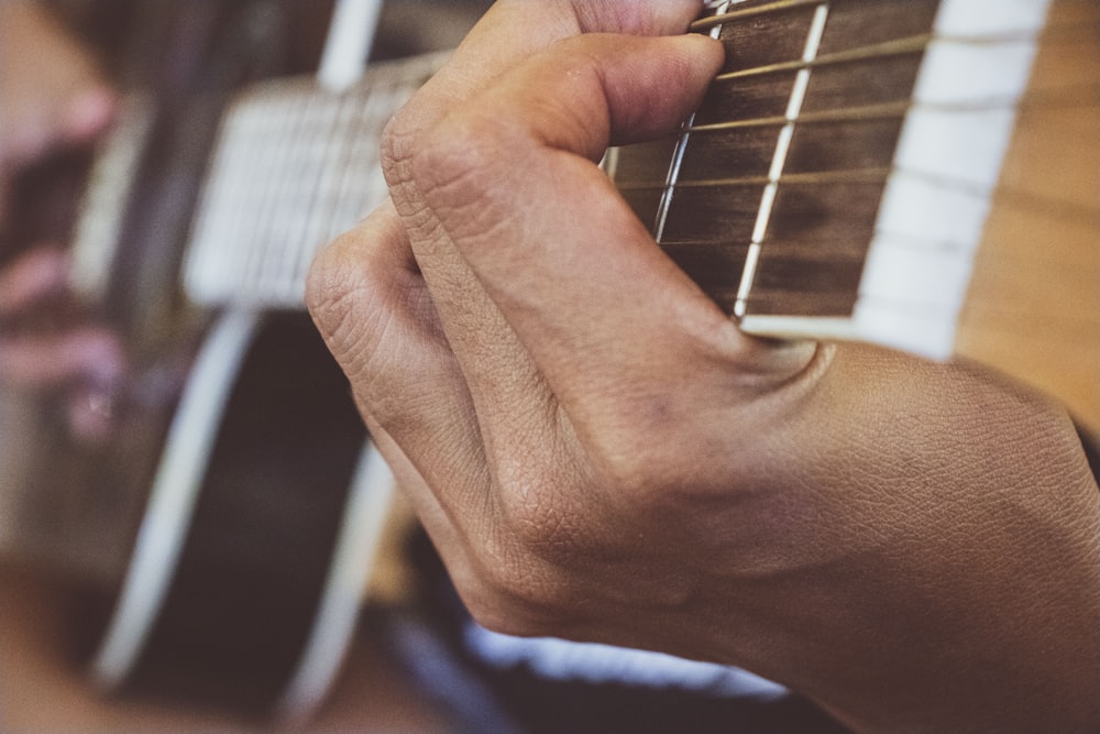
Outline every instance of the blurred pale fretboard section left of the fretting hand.
POLYGON ((374 65, 341 94, 314 78, 244 90, 222 121, 207 175, 187 295, 202 306, 304 308, 316 251, 386 197, 383 127, 443 58, 374 65))

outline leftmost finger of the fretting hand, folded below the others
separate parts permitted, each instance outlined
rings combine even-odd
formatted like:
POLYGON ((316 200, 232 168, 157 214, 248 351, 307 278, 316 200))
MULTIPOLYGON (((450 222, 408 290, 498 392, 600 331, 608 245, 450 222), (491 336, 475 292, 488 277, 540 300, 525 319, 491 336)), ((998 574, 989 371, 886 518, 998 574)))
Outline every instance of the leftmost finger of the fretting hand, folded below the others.
MULTIPOLYGON (((387 456, 424 478, 411 487, 426 480, 459 495, 480 491, 484 476, 471 473, 484 457, 469 391, 392 204, 319 254, 307 302, 364 416, 413 458, 387 456)), ((418 494, 428 512, 431 499, 418 494)))

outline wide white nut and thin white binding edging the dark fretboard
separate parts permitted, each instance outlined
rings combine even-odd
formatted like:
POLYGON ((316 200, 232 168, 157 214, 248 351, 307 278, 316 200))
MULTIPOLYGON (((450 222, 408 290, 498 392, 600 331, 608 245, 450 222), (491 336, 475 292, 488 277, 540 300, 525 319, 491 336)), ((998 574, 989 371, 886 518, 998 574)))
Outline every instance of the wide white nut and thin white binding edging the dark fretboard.
POLYGON ((752 333, 954 352, 974 258, 1049 0, 942 0, 850 319, 746 316, 752 333))

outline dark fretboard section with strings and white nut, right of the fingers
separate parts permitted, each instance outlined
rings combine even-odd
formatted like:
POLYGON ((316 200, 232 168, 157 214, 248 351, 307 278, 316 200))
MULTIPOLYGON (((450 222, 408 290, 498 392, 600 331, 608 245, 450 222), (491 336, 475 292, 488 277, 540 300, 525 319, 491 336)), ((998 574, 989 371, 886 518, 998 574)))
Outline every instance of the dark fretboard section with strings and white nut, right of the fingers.
POLYGON ((701 108, 612 157, 631 206, 747 331, 948 357, 1046 0, 712 4, 701 108))

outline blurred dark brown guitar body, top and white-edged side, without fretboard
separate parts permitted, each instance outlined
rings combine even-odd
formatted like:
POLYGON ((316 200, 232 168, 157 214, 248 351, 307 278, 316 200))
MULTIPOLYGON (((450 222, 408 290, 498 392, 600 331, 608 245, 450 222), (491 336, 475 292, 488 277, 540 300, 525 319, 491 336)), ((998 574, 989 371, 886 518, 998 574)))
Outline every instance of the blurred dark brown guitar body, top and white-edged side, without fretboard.
POLYGON ((185 297, 180 272, 227 103, 301 70, 290 20, 320 14, 323 32, 326 8, 114 4, 134 19, 127 101, 76 217, 74 286, 124 339, 132 383, 97 445, 70 435, 59 399, 14 399, 6 453, 26 462, 4 487, 4 545, 76 589, 101 689, 304 716, 361 602, 380 469, 304 313, 222 318, 185 297))

